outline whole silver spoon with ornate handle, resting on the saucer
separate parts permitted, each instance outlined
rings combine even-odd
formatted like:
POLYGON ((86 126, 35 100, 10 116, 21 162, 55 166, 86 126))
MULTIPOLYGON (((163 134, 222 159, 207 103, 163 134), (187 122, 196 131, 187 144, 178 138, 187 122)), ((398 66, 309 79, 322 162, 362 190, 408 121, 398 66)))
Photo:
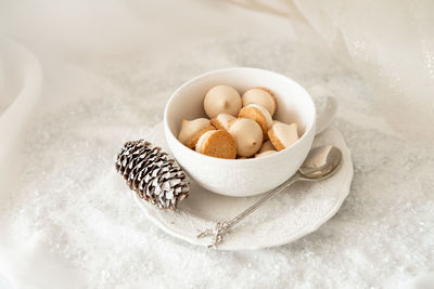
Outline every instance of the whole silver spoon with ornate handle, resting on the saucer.
POLYGON ((224 235, 228 234, 231 227, 254 212, 267 200, 283 192, 286 187, 297 181, 321 181, 333 175, 337 171, 341 160, 342 153, 335 146, 320 146, 310 149, 298 171, 290 180, 281 184, 275 191, 267 193, 263 198, 238 214, 231 221, 217 222, 214 228, 206 228, 205 231, 201 232, 196 238, 212 237, 213 242, 209 244, 208 248, 217 247, 217 245, 224 241, 224 235))

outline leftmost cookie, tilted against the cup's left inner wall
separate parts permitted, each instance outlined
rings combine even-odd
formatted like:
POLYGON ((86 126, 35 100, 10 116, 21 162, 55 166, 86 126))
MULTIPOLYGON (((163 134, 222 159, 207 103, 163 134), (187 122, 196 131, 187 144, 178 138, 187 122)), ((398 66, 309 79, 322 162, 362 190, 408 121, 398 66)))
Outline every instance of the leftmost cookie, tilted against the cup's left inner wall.
POLYGON ((181 120, 181 131, 179 132, 178 140, 189 148, 193 148, 199 137, 209 130, 215 130, 210 124, 209 119, 197 118, 193 120, 181 120))

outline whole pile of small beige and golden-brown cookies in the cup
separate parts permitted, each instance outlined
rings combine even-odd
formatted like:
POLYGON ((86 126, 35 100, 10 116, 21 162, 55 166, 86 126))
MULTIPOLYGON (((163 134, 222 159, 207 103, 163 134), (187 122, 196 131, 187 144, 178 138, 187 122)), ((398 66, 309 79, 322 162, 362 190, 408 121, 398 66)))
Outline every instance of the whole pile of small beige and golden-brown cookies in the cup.
POLYGON ((181 120, 178 140, 197 153, 225 159, 269 156, 298 140, 298 126, 273 120, 278 103, 267 88, 240 93, 217 86, 205 95, 208 118, 181 120))

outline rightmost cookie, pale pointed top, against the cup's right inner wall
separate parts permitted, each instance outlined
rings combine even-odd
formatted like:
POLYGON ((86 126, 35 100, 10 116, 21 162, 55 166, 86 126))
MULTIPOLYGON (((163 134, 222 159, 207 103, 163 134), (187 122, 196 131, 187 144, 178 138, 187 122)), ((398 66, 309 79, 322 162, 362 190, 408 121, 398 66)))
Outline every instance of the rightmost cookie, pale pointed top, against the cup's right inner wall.
POLYGON ((272 128, 268 131, 268 136, 277 150, 282 150, 298 140, 298 126, 296 122, 285 124, 276 121, 272 128))

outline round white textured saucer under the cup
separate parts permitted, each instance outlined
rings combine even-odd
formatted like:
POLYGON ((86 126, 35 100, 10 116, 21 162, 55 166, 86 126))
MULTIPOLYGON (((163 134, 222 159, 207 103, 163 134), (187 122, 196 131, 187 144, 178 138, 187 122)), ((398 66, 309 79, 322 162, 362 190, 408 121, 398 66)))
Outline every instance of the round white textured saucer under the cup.
MULTIPOLYGON (((169 152, 163 122, 155 126, 145 140, 169 152)), ((329 128, 314 141, 314 146, 329 144, 343 153, 343 163, 335 175, 318 183, 295 183, 237 224, 217 249, 256 250, 281 246, 316 231, 330 220, 349 193, 353 162, 344 139, 334 128, 329 128)), ((163 231, 200 246, 207 246, 210 241, 208 238, 197 239, 200 231, 214 227, 217 221, 232 219, 260 198, 260 195, 247 198, 217 195, 200 187, 193 180, 189 198, 180 202, 176 212, 158 210, 137 197, 136 193, 133 195, 144 214, 163 231)))

